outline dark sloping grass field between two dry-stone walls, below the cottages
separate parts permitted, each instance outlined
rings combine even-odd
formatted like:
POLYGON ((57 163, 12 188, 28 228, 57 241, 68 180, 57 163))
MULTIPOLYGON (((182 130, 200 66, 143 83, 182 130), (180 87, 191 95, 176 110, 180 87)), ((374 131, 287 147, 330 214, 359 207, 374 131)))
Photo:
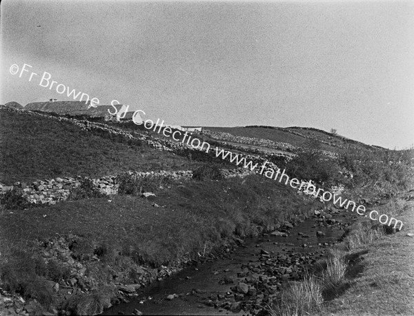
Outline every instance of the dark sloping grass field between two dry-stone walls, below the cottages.
POLYGON ((0 110, 0 182, 189 169, 187 159, 46 117, 0 110))

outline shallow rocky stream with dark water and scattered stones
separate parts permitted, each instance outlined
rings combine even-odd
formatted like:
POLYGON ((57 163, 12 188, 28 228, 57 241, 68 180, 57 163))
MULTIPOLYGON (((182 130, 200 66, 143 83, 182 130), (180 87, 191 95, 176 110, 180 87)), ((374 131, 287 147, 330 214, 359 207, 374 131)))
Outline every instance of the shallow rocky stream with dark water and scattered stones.
POLYGON ((322 212, 282 233, 245 239, 223 259, 153 282, 103 315, 256 315, 288 282, 300 280, 357 216, 322 212))

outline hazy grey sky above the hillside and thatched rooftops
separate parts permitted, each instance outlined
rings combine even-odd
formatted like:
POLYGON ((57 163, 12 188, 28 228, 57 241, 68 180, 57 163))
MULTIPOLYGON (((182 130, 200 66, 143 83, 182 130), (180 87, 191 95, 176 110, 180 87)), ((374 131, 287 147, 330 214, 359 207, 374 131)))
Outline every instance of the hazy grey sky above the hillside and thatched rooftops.
POLYGON ((0 37, 1 104, 71 100, 61 84, 169 125, 414 144, 411 0, 3 0, 0 37))

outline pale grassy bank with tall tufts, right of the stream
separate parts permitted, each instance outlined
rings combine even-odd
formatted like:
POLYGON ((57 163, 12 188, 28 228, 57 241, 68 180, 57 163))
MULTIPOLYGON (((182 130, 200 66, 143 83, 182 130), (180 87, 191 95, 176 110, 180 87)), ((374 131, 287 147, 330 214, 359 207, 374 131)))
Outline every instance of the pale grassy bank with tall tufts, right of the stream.
POLYGON ((414 307, 414 202, 392 199, 377 208, 404 221, 393 234, 360 219, 303 282, 291 284, 271 315, 411 315, 414 307))

